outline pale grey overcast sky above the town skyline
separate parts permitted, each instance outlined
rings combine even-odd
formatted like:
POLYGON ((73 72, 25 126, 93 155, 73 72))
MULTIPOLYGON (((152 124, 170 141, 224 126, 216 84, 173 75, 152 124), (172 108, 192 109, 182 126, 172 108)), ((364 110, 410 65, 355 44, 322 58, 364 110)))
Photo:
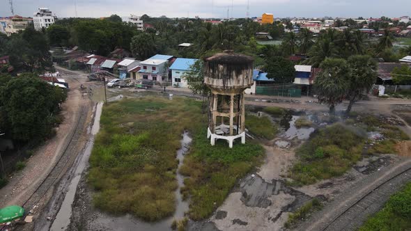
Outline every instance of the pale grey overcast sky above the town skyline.
MULTIPOLYGON (((17 15, 32 17, 38 7, 57 17, 107 17, 147 14, 153 17, 245 17, 247 0, 13 0, 17 15), (231 8, 233 10, 231 10, 231 8)), ((411 15, 411 0, 249 0, 250 17, 400 17, 411 15)), ((0 17, 10 16, 8 0, 0 1, 0 17)))

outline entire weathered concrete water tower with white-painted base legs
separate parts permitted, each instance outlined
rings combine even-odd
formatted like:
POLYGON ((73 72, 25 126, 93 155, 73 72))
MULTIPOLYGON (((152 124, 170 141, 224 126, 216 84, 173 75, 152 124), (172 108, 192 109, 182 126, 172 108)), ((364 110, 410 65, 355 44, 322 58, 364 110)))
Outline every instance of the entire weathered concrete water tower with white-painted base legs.
POLYGON ((205 59, 204 83, 211 89, 207 138, 245 143, 244 90, 253 85, 253 58, 233 51, 205 59))

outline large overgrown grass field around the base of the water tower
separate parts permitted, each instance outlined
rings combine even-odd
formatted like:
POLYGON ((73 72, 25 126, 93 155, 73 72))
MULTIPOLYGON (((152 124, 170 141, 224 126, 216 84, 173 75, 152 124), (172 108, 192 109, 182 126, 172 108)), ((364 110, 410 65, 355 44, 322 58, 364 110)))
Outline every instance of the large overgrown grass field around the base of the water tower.
POLYGON ((101 130, 91 155, 88 182, 93 203, 113 214, 130 213, 146 221, 171 216, 176 207, 176 150, 181 134, 193 138, 180 172, 189 216, 206 218, 222 204, 237 180, 261 163, 263 148, 217 142, 206 137, 201 102, 175 97, 123 99, 104 106, 101 130))

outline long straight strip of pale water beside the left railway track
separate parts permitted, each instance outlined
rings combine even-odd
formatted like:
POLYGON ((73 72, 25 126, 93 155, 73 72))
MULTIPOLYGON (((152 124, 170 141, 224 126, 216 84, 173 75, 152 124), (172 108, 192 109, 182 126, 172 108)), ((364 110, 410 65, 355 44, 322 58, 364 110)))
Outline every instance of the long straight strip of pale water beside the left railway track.
POLYGON ((95 112, 95 118, 93 122, 93 127, 91 128, 91 138, 86 144, 86 149, 82 155, 82 158, 77 161, 77 167, 73 173, 72 180, 68 186, 68 191, 65 194, 63 203, 53 221, 52 228, 50 230, 66 230, 68 225, 70 225, 70 216, 72 212, 72 202, 74 201, 77 185, 79 184, 80 178, 86 164, 88 163, 88 158, 90 157, 91 151, 93 150, 94 135, 98 133, 100 129, 100 116, 102 112, 102 102, 97 105, 97 111, 95 112))

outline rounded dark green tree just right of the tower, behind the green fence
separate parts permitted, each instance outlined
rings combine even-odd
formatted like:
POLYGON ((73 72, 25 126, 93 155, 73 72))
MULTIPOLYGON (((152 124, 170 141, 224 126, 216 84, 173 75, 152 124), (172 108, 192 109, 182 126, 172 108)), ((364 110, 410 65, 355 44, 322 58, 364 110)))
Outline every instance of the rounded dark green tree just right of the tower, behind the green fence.
POLYGON ((282 56, 268 57, 265 71, 275 83, 293 83, 295 79, 294 63, 282 56))

